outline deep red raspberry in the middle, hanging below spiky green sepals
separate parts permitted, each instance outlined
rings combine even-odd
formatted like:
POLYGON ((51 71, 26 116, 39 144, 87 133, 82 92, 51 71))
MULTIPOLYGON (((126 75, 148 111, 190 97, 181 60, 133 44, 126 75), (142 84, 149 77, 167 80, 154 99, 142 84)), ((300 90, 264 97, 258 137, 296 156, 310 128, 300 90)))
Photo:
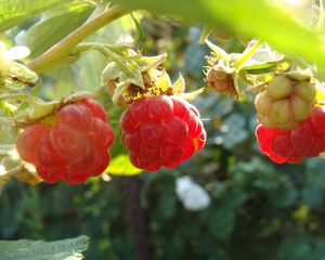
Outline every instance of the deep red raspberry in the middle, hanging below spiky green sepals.
POLYGON ((141 98, 125 110, 120 126, 131 162, 147 171, 176 167, 206 142, 197 109, 179 96, 141 98))

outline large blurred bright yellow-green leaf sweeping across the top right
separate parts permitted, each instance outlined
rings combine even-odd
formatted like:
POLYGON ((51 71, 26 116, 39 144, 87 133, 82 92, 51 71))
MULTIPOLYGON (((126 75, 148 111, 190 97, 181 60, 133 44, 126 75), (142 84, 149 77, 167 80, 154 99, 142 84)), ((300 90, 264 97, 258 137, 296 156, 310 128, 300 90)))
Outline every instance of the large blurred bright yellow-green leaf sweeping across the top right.
MULTIPOLYGON (((258 37, 291 57, 304 57, 325 69, 324 39, 268 0, 121 0, 129 6, 200 21, 246 38, 258 37)), ((299 60, 296 58, 298 62, 299 60)))

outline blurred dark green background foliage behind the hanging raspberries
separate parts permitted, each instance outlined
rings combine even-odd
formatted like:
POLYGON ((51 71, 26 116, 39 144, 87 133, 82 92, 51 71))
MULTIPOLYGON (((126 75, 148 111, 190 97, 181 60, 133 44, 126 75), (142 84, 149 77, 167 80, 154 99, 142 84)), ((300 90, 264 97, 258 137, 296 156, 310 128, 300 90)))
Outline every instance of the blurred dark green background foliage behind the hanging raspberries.
MULTIPOLYGON (((92 11, 86 5, 78 8, 79 18, 72 21, 64 34, 92 11)), ((56 21, 64 21, 62 12, 54 16, 56 21)), ((181 72, 187 91, 203 87, 209 49, 198 43, 202 27, 147 13, 140 13, 138 18, 144 34, 138 47, 143 54, 167 52, 164 66, 173 79, 181 72)), ((6 32, 11 42, 29 46, 31 56, 60 39, 46 37, 51 23, 30 28, 36 21, 28 20, 6 32), (39 34, 46 35, 37 38, 39 34)), ((135 35, 134 25, 126 17, 87 40, 114 42, 130 35, 135 35)), ((245 48, 234 37, 226 42, 211 40, 227 52, 245 48)), ((109 173, 128 167, 119 142, 122 109, 114 106, 99 87, 105 64, 100 54, 84 53, 69 67, 46 72, 40 94, 58 99, 79 89, 101 93, 99 101, 117 133, 109 173)), ((0 195, 0 239, 55 240, 84 234, 90 237, 84 256, 91 260, 132 260, 141 256, 164 260, 325 259, 325 160, 276 166, 262 156, 253 134, 252 99, 238 103, 209 90, 195 99, 192 103, 204 119, 207 144, 174 169, 134 177, 109 176, 105 181, 99 178, 83 185, 28 186, 10 181, 0 195), (204 188, 209 205, 200 209, 184 205, 177 183, 185 176, 204 188)), ((10 139, 2 135, 1 142, 10 139)))

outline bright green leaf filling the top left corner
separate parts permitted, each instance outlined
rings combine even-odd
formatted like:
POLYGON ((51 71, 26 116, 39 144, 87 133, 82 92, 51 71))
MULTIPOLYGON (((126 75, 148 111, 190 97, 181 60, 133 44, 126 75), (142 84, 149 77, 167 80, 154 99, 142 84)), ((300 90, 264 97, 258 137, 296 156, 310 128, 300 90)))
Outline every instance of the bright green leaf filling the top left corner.
POLYGON ((72 0, 1 0, 0 32, 22 21, 72 0))

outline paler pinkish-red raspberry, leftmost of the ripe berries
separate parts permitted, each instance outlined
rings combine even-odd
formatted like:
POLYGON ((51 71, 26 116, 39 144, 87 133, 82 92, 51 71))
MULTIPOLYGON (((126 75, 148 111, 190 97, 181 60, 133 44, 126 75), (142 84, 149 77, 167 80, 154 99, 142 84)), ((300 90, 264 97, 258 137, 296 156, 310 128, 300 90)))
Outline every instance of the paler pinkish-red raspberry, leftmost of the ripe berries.
POLYGON ((96 101, 68 104, 52 125, 48 120, 26 128, 16 148, 46 182, 81 183, 101 174, 109 164, 107 150, 115 135, 106 120, 106 112, 96 101))

